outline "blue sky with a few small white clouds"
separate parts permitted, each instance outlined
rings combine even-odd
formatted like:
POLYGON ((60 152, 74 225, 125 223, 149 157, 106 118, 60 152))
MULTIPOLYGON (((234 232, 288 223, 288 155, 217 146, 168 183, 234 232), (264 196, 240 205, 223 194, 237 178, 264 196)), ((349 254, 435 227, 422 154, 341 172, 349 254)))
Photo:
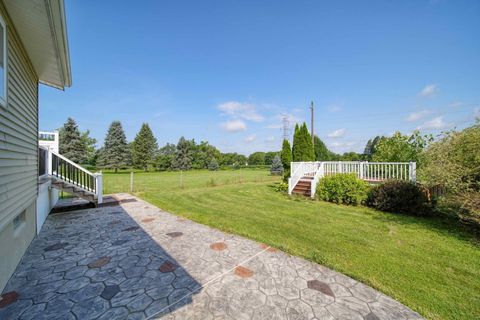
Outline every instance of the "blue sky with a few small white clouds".
POLYGON ((223 152, 279 150, 282 117, 336 152, 480 115, 480 1, 66 0, 73 86, 40 88, 40 128, 103 143, 148 122, 223 152))

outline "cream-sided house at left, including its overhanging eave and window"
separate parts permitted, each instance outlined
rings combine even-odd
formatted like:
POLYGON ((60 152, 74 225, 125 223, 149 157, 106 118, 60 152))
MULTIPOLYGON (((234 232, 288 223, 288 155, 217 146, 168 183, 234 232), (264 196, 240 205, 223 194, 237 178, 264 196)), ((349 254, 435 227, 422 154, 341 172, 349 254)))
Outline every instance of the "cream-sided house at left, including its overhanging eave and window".
POLYGON ((67 172, 39 156, 39 83, 71 85, 64 2, 0 0, 0 292, 56 200, 39 176, 67 172))

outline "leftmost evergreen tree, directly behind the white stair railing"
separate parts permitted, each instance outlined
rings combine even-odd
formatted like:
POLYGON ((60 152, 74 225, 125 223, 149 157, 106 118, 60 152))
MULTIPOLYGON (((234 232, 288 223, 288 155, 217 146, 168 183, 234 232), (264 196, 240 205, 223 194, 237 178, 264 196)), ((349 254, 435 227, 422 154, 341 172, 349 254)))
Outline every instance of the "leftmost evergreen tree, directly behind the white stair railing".
POLYGON ((83 163, 87 159, 87 146, 82 140, 78 125, 72 118, 59 130, 60 154, 72 160, 75 163, 83 163))

